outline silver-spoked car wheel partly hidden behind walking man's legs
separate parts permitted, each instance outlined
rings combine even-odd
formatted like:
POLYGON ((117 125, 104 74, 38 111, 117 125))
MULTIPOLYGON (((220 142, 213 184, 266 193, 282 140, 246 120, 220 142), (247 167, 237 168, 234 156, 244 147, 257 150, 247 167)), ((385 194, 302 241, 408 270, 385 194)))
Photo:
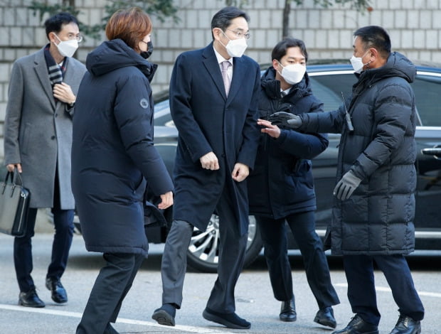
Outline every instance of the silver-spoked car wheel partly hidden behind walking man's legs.
MULTIPOLYGON (((262 250, 262 239, 254 216, 250 216, 248 243, 244 267, 250 265, 262 250)), ((188 266, 198 271, 216 273, 219 255, 219 216, 211 215, 208 227, 201 232, 196 228, 187 251, 188 266)))

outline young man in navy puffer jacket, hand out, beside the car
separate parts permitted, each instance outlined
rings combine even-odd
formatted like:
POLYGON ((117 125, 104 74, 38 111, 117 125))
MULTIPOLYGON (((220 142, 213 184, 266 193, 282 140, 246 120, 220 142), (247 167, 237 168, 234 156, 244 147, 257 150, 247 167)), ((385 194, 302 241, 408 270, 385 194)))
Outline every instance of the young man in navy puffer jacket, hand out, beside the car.
POLYGON ((327 136, 279 128, 267 122, 273 112, 293 114, 323 112, 312 94, 306 71, 307 50, 298 39, 285 38, 272 50, 272 66, 262 77, 260 120, 262 126, 255 169, 249 176, 250 214, 255 215, 265 247, 272 290, 282 301, 280 320, 294 321, 294 293, 287 255, 289 225, 304 260, 308 284, 319 306, 314 321, 336 327, 331 306, 339 298, 331 284, 322 240, 315 231, 316 197, 310 159, 328 146, 327 136))

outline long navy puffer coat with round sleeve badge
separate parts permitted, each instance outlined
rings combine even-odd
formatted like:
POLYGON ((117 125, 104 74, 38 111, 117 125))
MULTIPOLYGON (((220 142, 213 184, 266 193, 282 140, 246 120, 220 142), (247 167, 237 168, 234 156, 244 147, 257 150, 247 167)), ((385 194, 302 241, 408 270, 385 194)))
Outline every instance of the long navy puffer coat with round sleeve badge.
POLYGON ((153 146, 152 64, 121 40, 87 55, 73 118, 72 188, 86 248, 141 253, 146 180, 155 195, 173 189, 153 146))

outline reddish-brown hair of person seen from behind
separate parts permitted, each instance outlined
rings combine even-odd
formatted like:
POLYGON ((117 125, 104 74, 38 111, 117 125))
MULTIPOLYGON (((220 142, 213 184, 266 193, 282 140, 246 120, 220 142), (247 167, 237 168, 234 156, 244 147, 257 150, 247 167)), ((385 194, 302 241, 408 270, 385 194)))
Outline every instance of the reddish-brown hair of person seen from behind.
POLYGON ((139 50, 138 43, 152 32, 152 20, 139 7, 119 9, 106 25, 106 36, 109 40, 120 38, 134 50, 139 50))

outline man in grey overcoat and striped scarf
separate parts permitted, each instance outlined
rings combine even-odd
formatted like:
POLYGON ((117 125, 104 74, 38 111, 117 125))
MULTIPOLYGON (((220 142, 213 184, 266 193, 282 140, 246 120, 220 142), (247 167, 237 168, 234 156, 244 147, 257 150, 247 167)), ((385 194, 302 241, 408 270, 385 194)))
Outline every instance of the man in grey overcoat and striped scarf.
POLYGON ((75 95, 85 66, 71 58, 82 41, 77 19, 60 13, 45 22, 49 43, 14 63, 4 126, 8 171, 21 173, 31 192, 23 237, 14 239, 14 264, 20 294, 18 304, 44 307, 31 271, 38 208, 52 208, 55 236, 46 287, 55 303, 66 303, 60 282, 73 237, 75 203, 70 188, 70 148, 75 95))

